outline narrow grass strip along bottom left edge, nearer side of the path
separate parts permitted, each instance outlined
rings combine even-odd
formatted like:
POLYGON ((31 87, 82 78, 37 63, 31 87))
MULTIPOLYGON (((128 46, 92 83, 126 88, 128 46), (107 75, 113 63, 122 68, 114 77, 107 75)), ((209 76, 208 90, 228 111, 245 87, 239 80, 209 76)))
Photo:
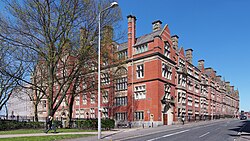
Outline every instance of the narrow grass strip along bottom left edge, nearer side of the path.
POLYGON ((73 139, 73 138, 81 138, 81 137, 89 137, 95 135, 55 135, 55 136, 37 136, 37 137, 15 137, 15 138, 0 138, 0 141, 55 141, 62 139, 73 139))

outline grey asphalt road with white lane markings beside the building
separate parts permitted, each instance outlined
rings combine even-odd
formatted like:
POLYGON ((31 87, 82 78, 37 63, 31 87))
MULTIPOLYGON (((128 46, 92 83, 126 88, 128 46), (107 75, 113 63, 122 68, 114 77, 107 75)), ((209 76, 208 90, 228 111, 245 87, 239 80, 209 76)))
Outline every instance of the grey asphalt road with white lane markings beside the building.
POLYGON ((224 120, 193 127, 183 126, 171 131, 152 132, 120 141, 234 141, 243 124, 239 120, 224 120))

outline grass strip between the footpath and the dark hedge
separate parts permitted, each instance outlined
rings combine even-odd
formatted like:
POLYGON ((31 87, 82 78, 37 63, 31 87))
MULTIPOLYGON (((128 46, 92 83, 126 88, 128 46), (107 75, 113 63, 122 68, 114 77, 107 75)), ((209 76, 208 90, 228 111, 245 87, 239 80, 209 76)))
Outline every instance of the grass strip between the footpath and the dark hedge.
MULTIPOLYGON (((66 133, 66 132, 96 132, 97 130, 83 130, 83 129, 57 129, 56 132, 66 133)), ((54 132, 51 130, 50 132, 54 132)), ((0 131, 0 135, 6 134, 34 134, 34 133, 44 133, 44 129, 19 129, 10 131, 0 131)))

